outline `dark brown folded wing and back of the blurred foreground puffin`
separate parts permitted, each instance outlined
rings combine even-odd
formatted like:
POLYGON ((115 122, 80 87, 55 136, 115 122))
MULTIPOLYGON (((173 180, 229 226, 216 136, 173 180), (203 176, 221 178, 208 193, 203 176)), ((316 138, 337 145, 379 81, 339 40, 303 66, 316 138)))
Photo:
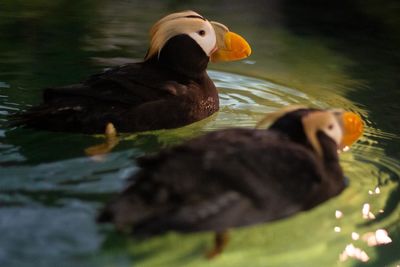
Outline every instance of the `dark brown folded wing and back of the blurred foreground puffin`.
POLYGON ((134 184, 100 219, 150 234, 222 230, 291 215, 308 208, 324 175, 304 147, 240 129, 208 134, 140 164, 134 184))

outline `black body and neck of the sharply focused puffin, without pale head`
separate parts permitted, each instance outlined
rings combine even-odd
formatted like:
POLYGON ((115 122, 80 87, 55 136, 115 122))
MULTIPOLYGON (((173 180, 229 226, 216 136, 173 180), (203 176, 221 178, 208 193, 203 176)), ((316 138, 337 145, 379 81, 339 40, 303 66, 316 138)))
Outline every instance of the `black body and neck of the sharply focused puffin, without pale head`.
POLYGON ((32 128, 84 133, 102 133, 109 122, 121 132, 190 124, 219 108, 207 63, 207 55, 193 40, 177 36, 159 58, 116 67, 80 84, 46 89, 43 103, 21 114, 19 122, 32 128), (174 69, 173 62, 183 59, 175 49, 183 47, 197 65, 174 69))

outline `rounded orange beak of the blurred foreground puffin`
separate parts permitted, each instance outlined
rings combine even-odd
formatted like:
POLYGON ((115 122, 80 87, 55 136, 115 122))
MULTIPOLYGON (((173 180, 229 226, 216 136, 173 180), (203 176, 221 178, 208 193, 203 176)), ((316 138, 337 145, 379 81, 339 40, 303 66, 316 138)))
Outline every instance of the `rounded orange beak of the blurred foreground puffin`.
POLYGON ((343 139, 340 148, 351 146, 360 138, 364 131, 364 124, 361 117, 353 112, 343 112, 343 139))

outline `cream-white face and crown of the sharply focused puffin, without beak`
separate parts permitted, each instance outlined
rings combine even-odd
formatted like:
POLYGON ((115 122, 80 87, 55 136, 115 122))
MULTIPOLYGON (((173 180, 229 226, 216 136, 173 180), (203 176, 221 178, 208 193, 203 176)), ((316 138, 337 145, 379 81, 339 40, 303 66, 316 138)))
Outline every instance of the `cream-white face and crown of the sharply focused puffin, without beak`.
POLYGON ((207 56, 216 48, 217 37, 211 23, 193 11, 186 11, 168 15, 153 26, 150 49, 145 59, 160 53, 169 39, 180 34, 190 36, 207 56))

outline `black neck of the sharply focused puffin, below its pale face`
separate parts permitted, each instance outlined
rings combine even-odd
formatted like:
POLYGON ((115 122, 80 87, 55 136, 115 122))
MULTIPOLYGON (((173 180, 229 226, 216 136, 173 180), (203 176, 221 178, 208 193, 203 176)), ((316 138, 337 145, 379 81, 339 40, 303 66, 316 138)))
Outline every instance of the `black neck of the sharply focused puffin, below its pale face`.
POLYGON ((206 74, 209 57, 196 41, 182 34, 168 40, 160 53, 146 62, 197 80, 206 74))

